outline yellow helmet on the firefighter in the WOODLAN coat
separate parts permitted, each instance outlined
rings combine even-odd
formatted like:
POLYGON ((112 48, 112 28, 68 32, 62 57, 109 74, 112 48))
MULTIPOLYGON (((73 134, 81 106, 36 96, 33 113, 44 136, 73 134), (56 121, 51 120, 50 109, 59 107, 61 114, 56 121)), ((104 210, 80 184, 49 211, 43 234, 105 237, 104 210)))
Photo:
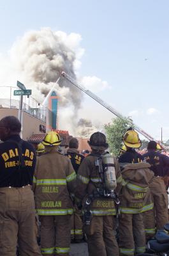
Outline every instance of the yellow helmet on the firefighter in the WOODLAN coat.
POLYGON ((45 138, 43 139, 42 143, 45 146, 58 146, 61 144, 61 137, 59 136, 59 134, 57 132, 48 132, 47 135, 45 136, 45 138))

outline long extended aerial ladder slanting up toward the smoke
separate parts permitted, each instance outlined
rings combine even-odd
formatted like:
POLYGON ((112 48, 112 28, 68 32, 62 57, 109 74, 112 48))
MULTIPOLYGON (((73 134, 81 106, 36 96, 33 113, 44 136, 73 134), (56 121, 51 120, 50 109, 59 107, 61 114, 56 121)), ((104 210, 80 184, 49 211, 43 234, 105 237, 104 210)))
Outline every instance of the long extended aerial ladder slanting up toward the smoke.
MULTIPOLYGON (((77 83, 77 81, 75 79, 73 79, 71 76, 69 76, 66 72, 61 72, 61 76, 64 77, 64 79, 66 79, 67 81, 70 81, 71 84, 75 85, 78 89, 80 89, 82 92, 86 93, 87 95, 89 95, 92 99, 96 100, 96 102, 98 102, 99 104, 101 104, 101 106, 103 106, 104 108, 107 108, 110 112, 112 112, 115 116, 119 117, 119 118, 124 118, 125 116, 121 115, 121 113, 119 113, 116 109, 112 108, 112 106, 110 106, 109 104, 107 104, 105 101, 103 101, 102 99, 100 99, 97 95, 95 95, 94 93, 92 93, 91 91, 87 90, 84 86, 80 85, 77 83)), ((154 140, 154 138, 152 138, 152 136, 150 134, 148 134, 147 132, 143 131, 143 129, 141 129, 140 127, 138 127, 137 125, 134 124, 135 130, 138 131, 140 134, 142 134, 145 138, 147 138, 148 140, 154 140)), ((159 141, 154 140, 159 144, 159 141)), ((161 145, 162 146, 162 145, 161 145)))

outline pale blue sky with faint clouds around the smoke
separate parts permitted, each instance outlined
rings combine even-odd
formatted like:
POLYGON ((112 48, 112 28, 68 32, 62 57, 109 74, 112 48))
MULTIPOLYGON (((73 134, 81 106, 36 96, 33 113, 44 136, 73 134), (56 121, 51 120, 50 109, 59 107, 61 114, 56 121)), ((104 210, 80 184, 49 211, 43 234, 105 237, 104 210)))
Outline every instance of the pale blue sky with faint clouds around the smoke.
MULTIPOLYGON (((89 79, 91 85, 85 79, 87 88, 155 139, 163 127, 163 140, 168 140, 168 10, 163 0, 1 1, 0 85, 9 81, 2 79, 4 56, 25 33, 41 28, 76 33, 83 49, 77 74, 97 77, 89 79)), ((114 117, 87 95, 79 113, 101 124, 114 117)))

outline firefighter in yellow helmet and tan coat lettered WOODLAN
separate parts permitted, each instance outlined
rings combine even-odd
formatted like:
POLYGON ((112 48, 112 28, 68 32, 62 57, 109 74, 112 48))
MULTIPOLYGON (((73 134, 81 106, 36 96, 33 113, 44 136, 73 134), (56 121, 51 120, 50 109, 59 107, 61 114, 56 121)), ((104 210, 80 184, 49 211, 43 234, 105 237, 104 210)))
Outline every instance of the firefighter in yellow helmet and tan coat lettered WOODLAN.
POLYGON ((67 256, 70 251, 70 216, 76 173, 70 159, 57 151, 61 138, 48 132, 42 141, 45 154, 38 157, 33 191, 41 221, 41 254, 67 256))

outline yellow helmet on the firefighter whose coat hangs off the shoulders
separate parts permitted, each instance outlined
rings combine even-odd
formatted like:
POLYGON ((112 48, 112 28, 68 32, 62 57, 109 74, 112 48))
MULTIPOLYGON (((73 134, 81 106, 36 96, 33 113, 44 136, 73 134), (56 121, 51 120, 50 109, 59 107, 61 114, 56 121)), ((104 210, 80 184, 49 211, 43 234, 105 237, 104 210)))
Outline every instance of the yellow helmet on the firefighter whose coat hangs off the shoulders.
POLYGON ((134 130, 129 130, 124 134, 123 142, 124 145, 129 148, 140 148, 142 145, 142 141, 140 141, 138 133, 134 130))

